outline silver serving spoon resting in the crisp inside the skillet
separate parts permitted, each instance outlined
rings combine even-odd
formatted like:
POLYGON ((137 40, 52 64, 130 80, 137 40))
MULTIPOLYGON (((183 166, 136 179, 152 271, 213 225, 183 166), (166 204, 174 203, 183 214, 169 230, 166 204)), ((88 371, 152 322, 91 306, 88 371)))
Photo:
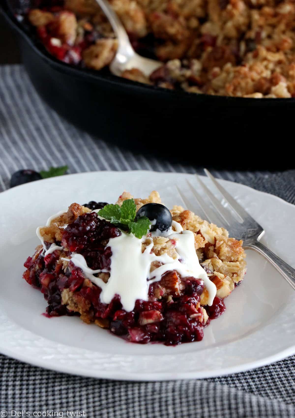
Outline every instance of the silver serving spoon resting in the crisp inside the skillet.
POLYGON ((118 39, 117 53, 109 66, 112 74, 120 76, 125 70, 137 68, 142 71, 143 74, 149 76, 153 71, 163 65, 163 63, 159 61, 138 55, 129 41, 123 24, 112 9, 108 0, 96 0, 96 2, 107 16, 118 39))

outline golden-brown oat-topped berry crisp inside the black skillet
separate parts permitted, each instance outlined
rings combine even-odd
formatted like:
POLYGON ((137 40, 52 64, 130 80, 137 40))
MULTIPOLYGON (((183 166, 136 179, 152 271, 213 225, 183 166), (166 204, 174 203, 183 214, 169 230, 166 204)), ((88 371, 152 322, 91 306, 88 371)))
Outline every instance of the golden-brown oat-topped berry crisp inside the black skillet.
MULTIPOLYGON (((51 54, 100 70, 117 49, 95 0, 52 0, 28 19, 51 54)), ((110 0, 140 54, 163 67, 122 76, 214 95, 295 95, 295 4, 285 0, 110 0)))

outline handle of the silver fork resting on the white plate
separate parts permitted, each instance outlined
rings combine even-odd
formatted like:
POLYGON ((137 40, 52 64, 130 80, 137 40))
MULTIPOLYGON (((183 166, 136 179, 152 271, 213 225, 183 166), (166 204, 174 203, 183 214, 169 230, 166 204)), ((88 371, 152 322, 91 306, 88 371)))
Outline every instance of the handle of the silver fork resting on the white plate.
POLYGON ((287 280, 287 282, 295 290, 295 269, 292 268, 289 264, 285 263, 280 257, 278 257, 274 252, 270 251, 265 245, 261 242, 256 241, 253 244, 245 246, 245 248, 252 248, 253 250, 259 252, 269 261, 279 273, 287 280))

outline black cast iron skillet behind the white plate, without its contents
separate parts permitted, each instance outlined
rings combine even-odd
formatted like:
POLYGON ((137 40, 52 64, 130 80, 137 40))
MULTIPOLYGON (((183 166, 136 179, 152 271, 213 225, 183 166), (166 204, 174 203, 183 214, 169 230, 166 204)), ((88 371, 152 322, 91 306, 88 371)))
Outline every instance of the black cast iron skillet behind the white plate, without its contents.
POLYGON ((23 63, 37 92, 81 129, 200 166, 294 167, 295 99, 191 94, 75 68, 48 54, 15 18, 32 0, 0 4, 18 33, 23 63))

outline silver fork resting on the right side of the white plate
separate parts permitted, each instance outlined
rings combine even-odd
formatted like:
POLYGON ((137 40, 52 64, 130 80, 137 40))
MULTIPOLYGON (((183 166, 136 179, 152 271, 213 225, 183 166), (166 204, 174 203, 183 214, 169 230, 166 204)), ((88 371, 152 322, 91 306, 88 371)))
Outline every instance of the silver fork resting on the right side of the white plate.
MULTIPOLYGON (((259 252, 259 254, 263 255, 277 269, 277 271, 281 273, 281 275, 295 290, 295 269, 287 263, 285 263, 285 261, 283 261, 275 253, 270 251, 267 247, 265 247, 265 245, 259 242, 260 238, 264 234, 264 229, 262 228, 262 226, 259 225, 255 221, 255 219, 253 219, 235 199, 233 199, 233 197, 216 181, 216 179, 206 168, 204 169, 204 171, 206 175, 211 179, 214 186, 216 186, 216 188, 222 194, 224 204, 221 204, 221 202, 216 198, 216 196, 214 196, 214 194, 208 189, 208 187, 201 181, 199 176, 196 175, 196 178, 198 179, 201 188, 206 193, 212 205, 216 209, 216 213, 224 221, 225 227, 229 230, 230 236, 235 237, 238 240, 243 240, 243 247, 245 249, 251 248, 259 252), (226 208, 226 206, 231 207, 231 209, 234 212, 234 216, 226 208)), ((189 188, 191 189, 191 192, 196 197, 198 204, 203 210, 203 214, 205 215, 206 219, 209 222, 214 222, 214 218, 216 218, 216 216, 214 215, 216 215, 216 213, 208 207, 206 202, 196 191, 195 187, 191 184, 191 182, 188 180, 186 181, 188 183, 189 188)), ((183 192, 179 189, 178 186, 176 187, 187 208, 194 212, 191 201, 183 194, 183 192)))

